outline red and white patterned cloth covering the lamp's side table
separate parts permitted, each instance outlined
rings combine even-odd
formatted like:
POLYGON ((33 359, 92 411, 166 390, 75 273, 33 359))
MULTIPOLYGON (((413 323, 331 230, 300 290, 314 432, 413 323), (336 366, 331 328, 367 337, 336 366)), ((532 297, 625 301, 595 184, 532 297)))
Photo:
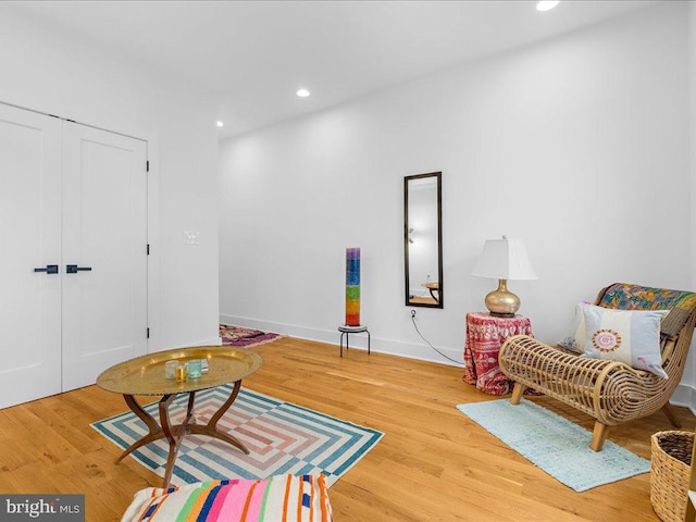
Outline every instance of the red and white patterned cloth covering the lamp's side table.
POLYGON ((494 318, 487 312, 467 314, 467 344, 464 345, 464 383, 490 395, 505 395, 512 383, 498 368, 498 351, 508 337, 532 335, 529 318, 494 318))

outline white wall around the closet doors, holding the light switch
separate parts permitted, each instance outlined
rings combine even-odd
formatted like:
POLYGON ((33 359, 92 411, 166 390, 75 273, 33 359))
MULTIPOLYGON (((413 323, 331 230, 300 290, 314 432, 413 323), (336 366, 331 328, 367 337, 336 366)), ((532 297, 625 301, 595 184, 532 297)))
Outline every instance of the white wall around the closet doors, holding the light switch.
POLYGON ((203 92, 0 5, 0 101, 148 140, 149 350, 217 339, 217 136, 203 92), (182 232, 200 232, 199 247, 182 232))

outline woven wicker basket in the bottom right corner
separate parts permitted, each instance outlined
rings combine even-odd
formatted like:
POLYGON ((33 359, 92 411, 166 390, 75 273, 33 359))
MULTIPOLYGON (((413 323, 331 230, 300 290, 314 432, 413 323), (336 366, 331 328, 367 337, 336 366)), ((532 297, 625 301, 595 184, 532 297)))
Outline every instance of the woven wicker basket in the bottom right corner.
POLYGON ((658 432, 651 437, 650 502, 663 522, 682 522, 688 501, 693 432, 658 432))

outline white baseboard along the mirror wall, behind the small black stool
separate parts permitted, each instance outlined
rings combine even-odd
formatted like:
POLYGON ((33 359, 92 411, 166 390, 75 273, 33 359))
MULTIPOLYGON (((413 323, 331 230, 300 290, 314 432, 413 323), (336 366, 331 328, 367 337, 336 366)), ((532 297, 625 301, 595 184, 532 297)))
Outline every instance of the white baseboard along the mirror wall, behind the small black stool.
MULTIPOLYGON (((307 326, 299 326, 294 324, 275 323, 269 321, 260 321, 250 318, 238 318, 235 315, 220 314, 220 322, 225 324, 234 324, 237 326, 246 326, 248 328, 258 328, 268 332, 275 332, 276 334, 284 334, 289 337, 297 337, 300 339, 316 340, 320 343, 326 343, 328 345, 339 345, 340 332, 338 332, 338 324, 335 330, 320 330, 307 326)), ((368 325, 368 328, 370 325, 368 325)), ((401 340, 385 339, 374 335, 374 332, 370 332, 370 350, 377 353, 387 353, 390 356, 406 357, 408 359, 418 359, 421 361, 437 362, 440 364, 448 364, 451 366, 463 365, 460 361, 463 359, 463 340, 462 346, 459 348, 440 348, 445 356, 458 361, 455 363, 448 361, 433 349, 422 344, 405 343, 401 340)), ((350 335, 350 349, 357 348, 359 350, 368 350, 368 336, 365 334, 351 334, 350 335)), ((463 368, 462 368, 463 371, 463 368)))

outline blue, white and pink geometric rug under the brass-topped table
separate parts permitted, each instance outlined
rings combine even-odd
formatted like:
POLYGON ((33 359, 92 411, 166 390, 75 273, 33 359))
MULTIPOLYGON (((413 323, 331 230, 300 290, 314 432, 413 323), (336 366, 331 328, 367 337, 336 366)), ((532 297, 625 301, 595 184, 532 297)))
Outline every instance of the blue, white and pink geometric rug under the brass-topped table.
MULTIPOLYGON (((231 385, 196 394, 194 415, 204 424, 227 397, 231 385)), ((188 395, 182 394, 170 407, 173 423, 186 413, 188 395)), ((159 419, 158 402, 145 409, 159 419)), ((144 422, 128 411, 95 422, 91 426, 122 449, 148 433, 144 422)), ((341 421, 268 395, 240 389, 237 399, 217 422, 248 449, 237 448, 202 435, 186 435, 178 450, 172 484, 222 478, 266 478, 276 474, 326 475, 332 486, 372 449, 383 433, 341 421)), ((130 453, 138 462, 164 476, 169 443, 165 438, 130 453)), ((117 464, 116 464, 117 465, 117 464)))

